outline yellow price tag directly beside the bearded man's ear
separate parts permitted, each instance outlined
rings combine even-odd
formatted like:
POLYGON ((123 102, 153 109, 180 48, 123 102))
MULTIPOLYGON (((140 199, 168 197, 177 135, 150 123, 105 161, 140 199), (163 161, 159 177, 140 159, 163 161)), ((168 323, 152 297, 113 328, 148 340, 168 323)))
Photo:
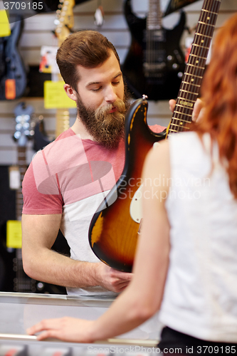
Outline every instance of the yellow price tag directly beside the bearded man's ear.
POLYGON ((76 108, 75 101, 68 98, 63 89, 64 82, 46 80, 43 83, 44 107, 46 109, 69 109, 76 108))

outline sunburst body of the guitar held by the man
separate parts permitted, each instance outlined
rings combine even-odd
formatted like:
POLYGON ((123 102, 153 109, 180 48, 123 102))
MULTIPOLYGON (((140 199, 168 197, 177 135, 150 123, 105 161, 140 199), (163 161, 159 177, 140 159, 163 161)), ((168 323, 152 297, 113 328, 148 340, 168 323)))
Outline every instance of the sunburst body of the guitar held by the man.
POLYGON ((95 255, 120 271, 132 271, 139 224, 130 215, 130 204, 141 185, 144 159, 154 142, 164 139, 165 135, 149 129, 147 101, 136 100, 125 122, 125 167, 116 186, 93 216, 89 229, 89 242, 95 255))

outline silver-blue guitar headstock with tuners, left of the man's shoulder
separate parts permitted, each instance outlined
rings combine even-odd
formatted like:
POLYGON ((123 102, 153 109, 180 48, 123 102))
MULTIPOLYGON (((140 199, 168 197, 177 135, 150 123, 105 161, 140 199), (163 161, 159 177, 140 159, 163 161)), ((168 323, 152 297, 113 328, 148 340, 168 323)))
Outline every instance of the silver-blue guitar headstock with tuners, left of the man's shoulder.
POLYGON ((34 135, 34 122, 31 122, 33 114, 33 107, 25 103, 19 103, 14 110, 16 120, 16 131, 14 133, 14 140, 18 142, 18 145, 25 147, 28 140, 34 135))

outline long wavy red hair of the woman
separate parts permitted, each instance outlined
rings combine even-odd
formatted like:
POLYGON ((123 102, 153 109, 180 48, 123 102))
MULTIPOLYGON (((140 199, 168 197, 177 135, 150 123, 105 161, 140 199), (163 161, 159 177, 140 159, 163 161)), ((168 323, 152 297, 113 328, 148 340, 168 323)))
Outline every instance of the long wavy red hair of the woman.
POLYGON ((229 185, 237 198, 237 14, 219 29, 211 62, 201 86, 204 120, 196 125, 199 135, 209 132, 218 142, 221 162, 227 161, 229 185))

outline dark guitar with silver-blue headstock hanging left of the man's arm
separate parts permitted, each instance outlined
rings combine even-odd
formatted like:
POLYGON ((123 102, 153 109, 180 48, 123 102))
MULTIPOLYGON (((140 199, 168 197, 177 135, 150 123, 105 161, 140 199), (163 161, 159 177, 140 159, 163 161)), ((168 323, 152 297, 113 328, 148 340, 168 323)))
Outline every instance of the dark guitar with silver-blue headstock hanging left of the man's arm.
MULTIPOLYGON (((14 112, 16 116, 16 132, 14 133, 14 140, 17 142, 17 169, 19 171, 19 182, 16 185, 19 185, 19 188, 16 189, 16 221, 7 221, 7 248, 4 246, 6 253, 4 253, 4 258, 1 259, 1 263, 3 263, 5 273, 6 268, 10 268, 10 270, 7 271, 6 276, 1 276, 3 279, 1 290, 22 293, 65 294, 65 288, 63 287, 42 283, 28 277, 23 271, 21 248, 16 248, 16 246, 14 246, 15 244, 18 245, 18 242, 15 242, 14 240, 17 239, 19 241, 19 239, 21 239, 21 224, 14 223, 21 221, 21 211, 23 206, 21 183, 27 169, 26 146, 28 140, 34 135, 34 122, 31 120, 33 108, 31 106, 26 106, 25 103, 19 103, 14 112), (14 228, 11 227, 13 225, 15 226, 14 228), (13 234, 13 236, 10 236, 10 234, 13 234), (7 253, 8 256, 6 256, 7 253), (9 281, 9 279, 11 279, 11 281, 9 281)), ((14 168, 16 169, 16 166, 14 168)))

